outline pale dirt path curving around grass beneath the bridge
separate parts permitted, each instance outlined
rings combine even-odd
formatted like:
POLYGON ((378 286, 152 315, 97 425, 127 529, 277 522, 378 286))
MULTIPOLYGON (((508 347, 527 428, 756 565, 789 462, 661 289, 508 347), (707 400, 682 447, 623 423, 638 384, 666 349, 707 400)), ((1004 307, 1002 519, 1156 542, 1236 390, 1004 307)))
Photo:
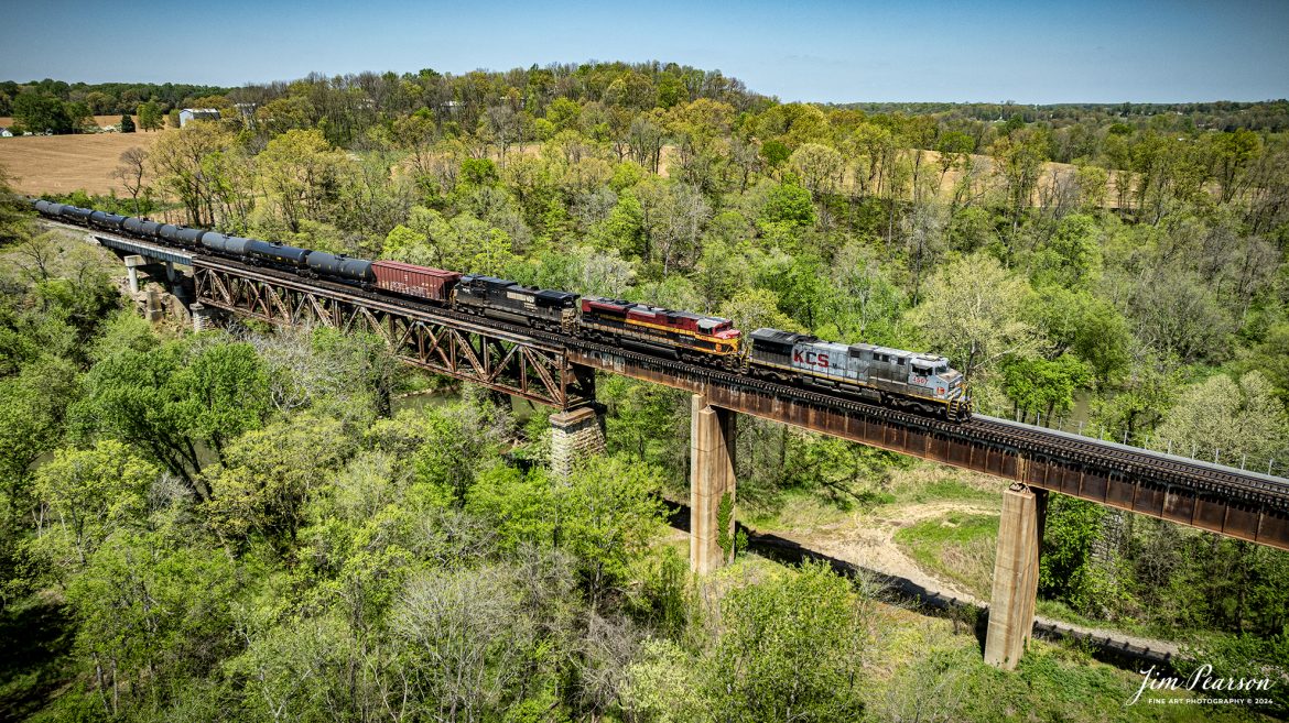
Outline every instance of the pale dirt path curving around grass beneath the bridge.
MULTIPOLYGON (((877 570, 886 575, 904 578, 922 585, 927 590, 958 598, 968 605, 987 607, 987 601, 977 599, 954 583, 928 574, 911 557, 905 554, 895 542, 895 535, 901 529, 916 525, 923 520, 942 517, 951 512, 996 515, 998 508, 985 503, 962 500, 911 503, 886 507, 870 515, 856 516, 852 520, 822 525, 812 530, 775 530, 773 534, 829 557, 835 557, 837 560, 869 570, 877 570)), ((1078 625, 1042 615, 1036 616, 1036 620, 1062 630, 1072 630, 1097 639, 1109 638, 1173 656, 1179 651, 1179 646, 1169 641, 1158 641, 1118 630, 1078 625)))

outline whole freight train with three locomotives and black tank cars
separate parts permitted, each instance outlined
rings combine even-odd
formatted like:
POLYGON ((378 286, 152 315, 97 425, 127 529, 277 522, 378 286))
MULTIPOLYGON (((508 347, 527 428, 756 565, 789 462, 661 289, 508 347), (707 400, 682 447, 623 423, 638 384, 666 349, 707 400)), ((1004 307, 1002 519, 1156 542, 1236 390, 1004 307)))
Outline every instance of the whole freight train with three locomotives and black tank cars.
POLYGON ((63 223, 632 347, 655 356, 824 390, 950 421, 969 419, 972 413, 963 374, 953 369, 944 356, 867 343, 835 343, 768 328, 744 334, 733 328, 730 319, 721 316, 527 287, 508 279, 401 261, 353 259, 41 199, 31 199, 31 205, 41 215, 63 223))

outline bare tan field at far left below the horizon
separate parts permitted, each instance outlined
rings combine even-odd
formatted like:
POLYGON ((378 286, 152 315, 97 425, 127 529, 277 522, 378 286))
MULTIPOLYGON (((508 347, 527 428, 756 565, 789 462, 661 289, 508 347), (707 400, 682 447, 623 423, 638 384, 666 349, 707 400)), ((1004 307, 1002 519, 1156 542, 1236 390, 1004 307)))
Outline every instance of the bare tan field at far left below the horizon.
POLYGON ((0 138, 0 166, 14 178, 14 189, 22 193, 116 190, 124 194, 121 181, 112 178, 121 153, 135 145, 150 148, 161 133, 0 138))

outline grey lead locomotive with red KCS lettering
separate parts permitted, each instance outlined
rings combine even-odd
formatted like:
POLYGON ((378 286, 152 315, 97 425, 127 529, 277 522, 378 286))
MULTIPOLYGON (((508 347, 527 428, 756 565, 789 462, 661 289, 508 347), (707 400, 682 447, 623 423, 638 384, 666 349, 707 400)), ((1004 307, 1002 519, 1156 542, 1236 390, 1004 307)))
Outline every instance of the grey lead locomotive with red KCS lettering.
POLYGON ((944 356, 870 343, 834 343, 767 328, 751 332, 749 338, 748 372, 754 377, 847 391, 951 421, 971 417, 963 376, 944 356))

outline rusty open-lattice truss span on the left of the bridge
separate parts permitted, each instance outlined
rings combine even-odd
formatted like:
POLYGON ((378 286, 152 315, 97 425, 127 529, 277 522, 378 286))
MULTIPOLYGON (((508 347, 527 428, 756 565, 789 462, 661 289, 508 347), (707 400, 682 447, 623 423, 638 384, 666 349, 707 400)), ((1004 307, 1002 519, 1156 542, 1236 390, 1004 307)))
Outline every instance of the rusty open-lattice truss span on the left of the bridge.
POLYGON ((432 313, 340 284, 296 279, 228 261, 193 261, 197 301, 276 325, 370 333, 401 360, 458 380, 571 409, 594 401, 596 377, 558 345, 432 313))

